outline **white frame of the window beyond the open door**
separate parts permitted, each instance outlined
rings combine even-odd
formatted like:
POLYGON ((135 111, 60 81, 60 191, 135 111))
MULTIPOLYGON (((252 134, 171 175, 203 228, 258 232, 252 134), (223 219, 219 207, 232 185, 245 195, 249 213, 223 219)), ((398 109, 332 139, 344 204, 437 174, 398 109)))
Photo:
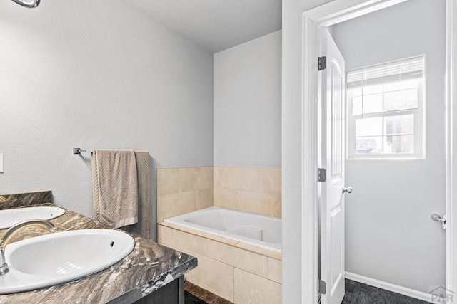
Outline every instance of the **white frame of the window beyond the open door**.
MULTIPOLYGON (((401 61, 401 60, 398 60, 401 61)), ((392 61, 391 63, 398 63, 398 61, 392 61)), ((353 115, 353 103, 350 90, 346 89, 347 98, 347 133, 346 133, 346 158, 347 159, 425 159, 425 116, 426 116, 426 100, 425 100, 425 83, 426 83, 426 70, 425 70, 426 57, 423 56, 423 77, 418 82, 418 108, 408 110, 396 110, 388 112, 376 112, 376 113, 365 113, 362 115, 353 115), (414 152, 413 153, 367 153, 357 154, 356 153, 356 119, 358 118, 373 118, 373 117, 393 117, 397 115, 413 115, 414 120, 414 152)), ((386 63, 382 63, 386 64, 386 63)), ((381 65, 381 64, 380 64, 381 65)), ((372 65, 375 66, 375 65, 372 65)), ((369 68, 369 67, 366 67, 369 68)), ((358 69, 359 70, 359 69, 358 69)), ((347 73, 350 73, 348 71, 347 73)), ((346 77, 347 79, 347 77, 346 77)))

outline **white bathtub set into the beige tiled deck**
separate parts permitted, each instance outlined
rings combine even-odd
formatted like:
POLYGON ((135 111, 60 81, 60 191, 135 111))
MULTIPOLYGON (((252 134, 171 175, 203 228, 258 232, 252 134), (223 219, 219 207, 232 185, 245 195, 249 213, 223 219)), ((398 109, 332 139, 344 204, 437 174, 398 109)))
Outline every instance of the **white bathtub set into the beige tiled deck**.
POLYGON ((277 217, 213 206, 164 221, 281 253, 277 217))

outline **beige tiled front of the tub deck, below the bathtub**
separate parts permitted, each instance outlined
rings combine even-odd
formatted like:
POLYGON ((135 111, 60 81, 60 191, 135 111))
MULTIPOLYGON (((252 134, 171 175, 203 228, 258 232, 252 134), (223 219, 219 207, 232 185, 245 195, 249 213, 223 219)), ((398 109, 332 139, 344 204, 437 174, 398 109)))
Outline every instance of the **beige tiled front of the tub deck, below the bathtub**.
MULTIPOLYGON (((159 224, 159 243, 199 259, 186 279, 235 304, 281 303, 281 261, 229 239, 207 239, 192 229, 159 224)), ((279 256, 281 258, 281 256, 279 256)))

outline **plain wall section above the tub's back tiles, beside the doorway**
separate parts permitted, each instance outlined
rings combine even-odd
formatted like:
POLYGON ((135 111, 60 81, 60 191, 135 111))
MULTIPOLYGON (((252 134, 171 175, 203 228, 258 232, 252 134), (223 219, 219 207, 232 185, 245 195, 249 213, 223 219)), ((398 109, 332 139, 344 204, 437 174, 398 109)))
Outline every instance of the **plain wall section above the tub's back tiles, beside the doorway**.
POLYGON ((214 165, 281 167, 281 31, 214 54, 214 165))

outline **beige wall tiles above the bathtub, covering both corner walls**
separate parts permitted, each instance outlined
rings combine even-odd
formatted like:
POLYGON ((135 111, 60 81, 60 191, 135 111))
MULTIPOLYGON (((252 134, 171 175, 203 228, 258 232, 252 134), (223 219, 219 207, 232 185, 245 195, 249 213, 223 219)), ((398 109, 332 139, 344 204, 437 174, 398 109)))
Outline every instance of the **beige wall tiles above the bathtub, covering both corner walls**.
POLYGON ((209 206, 281 217, 281 169, 157 169, 157 222, 209 206))

